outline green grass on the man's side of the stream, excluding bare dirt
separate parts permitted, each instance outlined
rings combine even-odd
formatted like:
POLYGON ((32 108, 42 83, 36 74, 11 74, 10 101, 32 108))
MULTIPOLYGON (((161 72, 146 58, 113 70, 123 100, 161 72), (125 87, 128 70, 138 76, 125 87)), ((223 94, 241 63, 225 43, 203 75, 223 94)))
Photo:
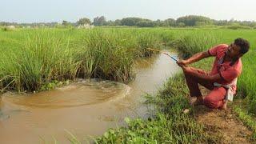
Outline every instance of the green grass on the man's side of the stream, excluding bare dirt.
MULTIPOLYGON (((207 50, 210 46, 218 43, 227 43, 234 41, 234 38, 242 37, 251 42, 251 49, 248 54, 242 58, 243 73, 238 81, 238 97, 243 98, 242 109, 234 106, 234 111, 238 118, 242 119, 250 130, 254 133, 251 141, 255 142, 255 119, 248 114, 254 114, 255 101, 255 77, 252 73, 255 71, 255 34, 250 30, 163 30, 163 34, 172 33, 173 39, 169 39, 170 46, 174 46, 183 55, 189 57, 194 53, 207 50), (248 101, 249 100, 249 101, 248 101), (246 111, 246 114, 245 112, 246 111)), ((170 37, 168 37, 170 38, 170 37)), ((210 70, 213 58, 198 62, 194 66, 210 70)), ((189 115, 182 114, 182 110, 189 108, 188 102, 184 96, 188 94, 184 84, 182 74, 170 78, 162 90, 154 97, 149 97, 150 103, 157 107, 156 115, 149 120, 135 119, 130 121, 126 119, 128 126, 117 130, 109 130, 101 138, 97 139, 100 143, 114 142, 221 142, 221 135, 208 135, 205 133, 203 126, 194 122, 193 112, 189 115)), ((191 107, 190 107, 191 109, 191 107)), ((193 110, 191 110, 193 111, 193 110)))

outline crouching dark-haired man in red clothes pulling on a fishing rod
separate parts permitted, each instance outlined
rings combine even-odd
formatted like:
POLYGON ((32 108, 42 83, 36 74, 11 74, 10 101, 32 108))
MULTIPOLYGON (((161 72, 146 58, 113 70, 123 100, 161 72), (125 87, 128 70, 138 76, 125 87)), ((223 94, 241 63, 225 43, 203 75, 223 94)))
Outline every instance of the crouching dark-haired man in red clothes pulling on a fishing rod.
POLYGON ((196 101, 191 104, 203 104, 212 109, 226 110, 227 99, 232 101, 237 89, 237 78, 242 72, 241 57, 246 54, 249 47, 248 41, 237 38, 230 46, 226 44, 214 46, 210 50, 194 54, 191 58, 178 61, 178 66, 182 67, 185 74, 190 97, 196 97, 196 101), (215 57, 210 73, 187 66, 208 57, 215 57), (198 84, 211 90, 205 98, 202 97, 198 84))

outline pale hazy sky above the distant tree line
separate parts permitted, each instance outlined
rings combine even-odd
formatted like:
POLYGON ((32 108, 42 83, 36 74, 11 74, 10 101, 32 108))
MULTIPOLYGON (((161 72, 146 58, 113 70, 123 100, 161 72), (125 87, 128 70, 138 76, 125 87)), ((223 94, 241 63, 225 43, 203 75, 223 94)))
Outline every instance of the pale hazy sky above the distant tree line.
POLYGON ((202 15, 256 21, 255 0, 0 0, 0 22, 77 22, 105 16, 151 20, 202 15))

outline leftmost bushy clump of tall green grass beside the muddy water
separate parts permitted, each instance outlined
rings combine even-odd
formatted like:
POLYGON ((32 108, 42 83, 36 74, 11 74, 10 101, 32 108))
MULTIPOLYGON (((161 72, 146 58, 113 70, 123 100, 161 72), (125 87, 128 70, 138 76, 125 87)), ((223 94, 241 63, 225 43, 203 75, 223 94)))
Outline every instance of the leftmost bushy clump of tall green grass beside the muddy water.
POLYGON ((52 80, 73 79, 78 62, 61 38, 36 35, 20 50, 10 49, 0 62, 1 86, 9 90, 38 90, 52 80))

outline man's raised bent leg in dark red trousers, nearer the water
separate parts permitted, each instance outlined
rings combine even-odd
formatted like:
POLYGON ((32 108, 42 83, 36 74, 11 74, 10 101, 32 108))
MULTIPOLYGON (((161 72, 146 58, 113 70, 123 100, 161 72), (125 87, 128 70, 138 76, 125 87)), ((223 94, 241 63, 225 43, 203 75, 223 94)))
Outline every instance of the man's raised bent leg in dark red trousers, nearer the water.
MULTIPOLYGON (((200 74, 207 74, 205 71, 200 70, 200 69, 192 68, 192 70, 195 70, 200 74)), ((202 98, 201 91, 198 87, 198 84, 205 86, 209 90, 213 90, 214 89, 213 83, 206 82, 205 80, 202 80, 201 78, 196 78, 190 74, 184 73, 184 75, 186 78, 186 85, 188 86, 188 88, 190 90, 190 97, 196 97, 197 98, 196 103, 202 103, 203 98, 202 98)))

